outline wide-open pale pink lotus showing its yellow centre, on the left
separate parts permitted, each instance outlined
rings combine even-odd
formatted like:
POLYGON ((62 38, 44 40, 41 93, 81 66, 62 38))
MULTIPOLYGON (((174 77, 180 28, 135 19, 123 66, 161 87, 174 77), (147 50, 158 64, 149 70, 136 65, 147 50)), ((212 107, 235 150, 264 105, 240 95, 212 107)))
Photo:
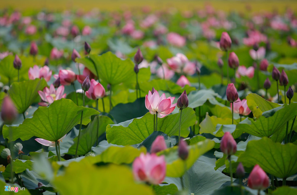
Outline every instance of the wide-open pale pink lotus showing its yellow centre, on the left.
POLYGON ((45 87, 43 91, 38 91, 38 93, 41 99, 44 101, 44 102, 38 103, 40 106, 48 106, 49 104, 53 103, 55 100, 66 97, 66 93, 64 93, 63 85, 58 87, 56 90, 54 85, 51 84, 50 88, 45 87))

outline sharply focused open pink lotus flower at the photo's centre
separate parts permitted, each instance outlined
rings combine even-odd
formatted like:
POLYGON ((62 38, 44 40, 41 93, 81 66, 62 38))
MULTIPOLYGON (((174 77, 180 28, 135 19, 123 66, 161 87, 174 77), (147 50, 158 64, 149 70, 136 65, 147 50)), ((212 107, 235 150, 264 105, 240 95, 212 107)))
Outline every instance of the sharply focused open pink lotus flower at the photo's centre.
POLYGON ((163 118, 174 110, 176 106, 176 104, 172 104, 174 99, 175 97, 171 96, 166 98, 165 93, 160 97, 157 90, 153 94, 149 91, 146 94, 145 105, 152 115, 158 112, 158 118, 163 118))

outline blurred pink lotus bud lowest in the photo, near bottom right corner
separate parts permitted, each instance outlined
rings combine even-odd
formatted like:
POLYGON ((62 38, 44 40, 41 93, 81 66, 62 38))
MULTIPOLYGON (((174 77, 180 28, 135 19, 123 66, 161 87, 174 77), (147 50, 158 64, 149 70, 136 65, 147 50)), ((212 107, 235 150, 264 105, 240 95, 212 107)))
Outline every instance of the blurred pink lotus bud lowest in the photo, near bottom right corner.
POLYGON ((255 190, 264 190, 269 186, 269 178, 259 165, 255 165, 249 174, 248 186, 255 190))

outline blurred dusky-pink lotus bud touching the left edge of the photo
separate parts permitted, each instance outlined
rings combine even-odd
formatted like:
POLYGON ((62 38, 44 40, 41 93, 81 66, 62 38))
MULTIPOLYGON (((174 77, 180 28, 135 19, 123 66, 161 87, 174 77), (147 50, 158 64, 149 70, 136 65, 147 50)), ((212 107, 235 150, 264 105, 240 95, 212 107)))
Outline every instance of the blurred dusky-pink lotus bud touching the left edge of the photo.
POLYGON ((12 100, 9 96, 6 96, 2 100, 1 118, 6 124, 11 124, 18 116, 18 111, 15 108, 12 100))

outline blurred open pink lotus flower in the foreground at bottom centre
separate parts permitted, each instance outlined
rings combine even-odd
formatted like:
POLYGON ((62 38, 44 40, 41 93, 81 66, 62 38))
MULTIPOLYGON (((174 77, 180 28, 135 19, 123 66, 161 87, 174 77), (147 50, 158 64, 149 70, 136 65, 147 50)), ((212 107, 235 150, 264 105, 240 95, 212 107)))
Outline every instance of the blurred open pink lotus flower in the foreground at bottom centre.
POLYGON ((136 180, 157 185, 165 178, 165 157, 157 156, 156 154, 141 153, 140 156, 134 160, 132 168, 136 180))

